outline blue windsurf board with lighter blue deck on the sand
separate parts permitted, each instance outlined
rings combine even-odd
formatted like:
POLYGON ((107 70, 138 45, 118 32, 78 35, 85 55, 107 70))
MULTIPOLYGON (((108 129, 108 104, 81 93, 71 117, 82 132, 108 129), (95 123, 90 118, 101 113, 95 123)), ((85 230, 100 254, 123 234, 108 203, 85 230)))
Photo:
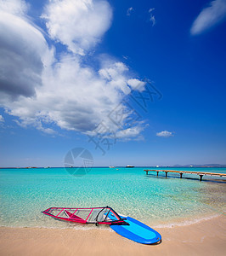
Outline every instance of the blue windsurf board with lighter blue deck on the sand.
MULTIPOLYGON (((112 213, 108 216, 111 219, 116 218, 112 213)), ((121 218, 124 218, 121 216, 121 218)), ((126 217, 125 221, 129 225, 110 225, 110 228, 121 236, 126 237, 132 241, 137 241, 143 244, 153 244, 161 241, 161 235, 151 229, 144 223, 139 222, 135 218, 126 217)))

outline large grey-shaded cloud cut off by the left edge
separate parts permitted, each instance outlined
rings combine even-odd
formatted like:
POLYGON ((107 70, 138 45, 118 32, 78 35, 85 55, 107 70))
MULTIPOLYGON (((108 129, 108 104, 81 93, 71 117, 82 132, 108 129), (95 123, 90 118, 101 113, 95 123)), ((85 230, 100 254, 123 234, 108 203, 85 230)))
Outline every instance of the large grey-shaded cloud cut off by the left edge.
POLYGON ((24 2, 1 1, 0 9, 0 91, 4 98, 33 96, 42 85, 48 44, 23 16, 24 2))

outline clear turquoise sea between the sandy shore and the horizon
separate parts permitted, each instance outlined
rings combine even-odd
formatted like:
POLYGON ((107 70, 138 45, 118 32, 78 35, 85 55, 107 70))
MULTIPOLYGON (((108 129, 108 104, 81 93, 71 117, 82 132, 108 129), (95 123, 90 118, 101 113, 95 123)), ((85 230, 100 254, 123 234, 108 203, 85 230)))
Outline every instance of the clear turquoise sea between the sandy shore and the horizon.
MULTIPOLYGON (((0 169, 0 225, 90 229, 41 212, 48 207, 113 207, 152 227, 189 224, 226 213, 226 178, 155 172, 139 168, 95 167, 73 176, 65 168, 0 169)), ((152 167, 153 169, 153 167, 152 167)), ((155 168, 157 169, 157 168, 155 168)), ((170 168, 167 168, 168 170, 170 168)), ((222 172, 226 168, 172 168, 222 172)))

